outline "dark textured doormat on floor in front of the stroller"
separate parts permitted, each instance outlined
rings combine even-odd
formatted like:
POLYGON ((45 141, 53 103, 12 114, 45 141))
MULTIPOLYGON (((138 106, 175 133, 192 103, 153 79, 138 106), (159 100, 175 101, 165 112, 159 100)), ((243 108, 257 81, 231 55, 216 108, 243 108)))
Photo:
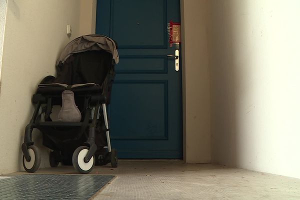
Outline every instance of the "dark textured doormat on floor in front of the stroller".
POLYGON ((113 175, 17 175, 0 179, 0 199, 86 200, 113 177, 113 175))

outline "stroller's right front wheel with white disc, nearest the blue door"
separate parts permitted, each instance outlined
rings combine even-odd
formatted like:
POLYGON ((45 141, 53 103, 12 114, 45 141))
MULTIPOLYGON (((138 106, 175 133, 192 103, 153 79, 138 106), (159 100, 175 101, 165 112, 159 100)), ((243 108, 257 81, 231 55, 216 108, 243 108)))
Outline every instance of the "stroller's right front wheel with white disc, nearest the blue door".
POLYGON ((93 155, 88 162, 84 162, 84 157, 88 152, 87 146, 79 146, 73 153, 72 163, 74 168, 80 173, 88 173, 95 165, 95 156, 93 155))

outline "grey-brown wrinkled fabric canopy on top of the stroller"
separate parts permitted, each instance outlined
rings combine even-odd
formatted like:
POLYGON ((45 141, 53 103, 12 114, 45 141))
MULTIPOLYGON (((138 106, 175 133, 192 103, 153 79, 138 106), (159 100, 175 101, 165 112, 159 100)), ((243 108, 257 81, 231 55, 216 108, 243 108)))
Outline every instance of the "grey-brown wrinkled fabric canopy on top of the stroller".
POLYGON ((116 44, 111 38, 98 34, 89 34, 70 41, 60 53, 56 66, 59 63, 64 63, 71 54, 88 50, 105 50, 112 54, 112 59, 116 64, 119 61, 116 44))

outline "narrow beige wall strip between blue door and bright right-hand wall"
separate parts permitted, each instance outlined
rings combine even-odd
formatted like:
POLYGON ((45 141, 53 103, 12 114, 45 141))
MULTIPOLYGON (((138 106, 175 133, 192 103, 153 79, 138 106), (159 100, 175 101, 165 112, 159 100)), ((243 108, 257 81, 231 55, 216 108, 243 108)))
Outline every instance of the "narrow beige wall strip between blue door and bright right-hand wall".
POLYGON ((183 154, 188 163, 210 162, 207 0, 181 0, 183 154))

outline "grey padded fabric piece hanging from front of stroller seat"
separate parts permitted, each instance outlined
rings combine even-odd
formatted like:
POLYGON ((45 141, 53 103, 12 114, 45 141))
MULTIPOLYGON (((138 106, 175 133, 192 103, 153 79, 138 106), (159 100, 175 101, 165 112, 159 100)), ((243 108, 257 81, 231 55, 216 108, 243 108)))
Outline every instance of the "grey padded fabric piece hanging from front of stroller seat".
POLYGON ((62 106, 58 113, 59 121, 80 121, 81 113, 74 100, 74 93, 71 90, 64 90, 61 93, 62 106))

